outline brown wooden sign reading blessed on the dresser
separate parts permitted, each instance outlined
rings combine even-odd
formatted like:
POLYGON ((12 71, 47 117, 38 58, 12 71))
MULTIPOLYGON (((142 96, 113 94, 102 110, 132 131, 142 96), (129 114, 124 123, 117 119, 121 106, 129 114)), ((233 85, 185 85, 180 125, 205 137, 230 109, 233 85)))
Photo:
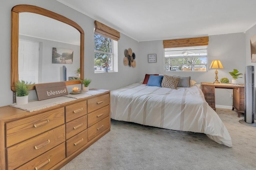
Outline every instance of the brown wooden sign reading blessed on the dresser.
POLYGON ((56 98, 68 94, 65 82, 36 84, 35 89, 38 100, 56 98))

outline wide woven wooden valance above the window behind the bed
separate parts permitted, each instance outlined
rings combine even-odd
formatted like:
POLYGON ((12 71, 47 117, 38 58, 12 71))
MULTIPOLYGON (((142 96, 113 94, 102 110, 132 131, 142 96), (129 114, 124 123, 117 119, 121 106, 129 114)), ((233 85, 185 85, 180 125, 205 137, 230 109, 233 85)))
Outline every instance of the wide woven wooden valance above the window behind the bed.
POLYGON ((164 40, 164 49, 176 47, 193 47, 208 45, 209 37, 185 38, 185 39, 170 39, 164 40))

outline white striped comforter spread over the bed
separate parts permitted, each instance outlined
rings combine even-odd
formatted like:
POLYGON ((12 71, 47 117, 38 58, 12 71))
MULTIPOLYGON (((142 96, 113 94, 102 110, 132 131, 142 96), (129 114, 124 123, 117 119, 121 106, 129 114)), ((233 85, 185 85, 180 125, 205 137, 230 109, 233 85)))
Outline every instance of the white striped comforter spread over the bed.
POLYGON ((231 137, 198 86, 160 88, 135 83, 112 90, 111 118, 178 131, 205 133, 232 147, 231 137))

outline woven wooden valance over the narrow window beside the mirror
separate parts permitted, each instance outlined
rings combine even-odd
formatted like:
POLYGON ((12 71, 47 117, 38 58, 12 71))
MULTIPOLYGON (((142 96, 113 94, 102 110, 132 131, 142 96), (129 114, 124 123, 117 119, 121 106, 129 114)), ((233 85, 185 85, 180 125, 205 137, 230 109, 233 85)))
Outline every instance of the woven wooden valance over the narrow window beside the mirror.
POLYGON ((120 39, 120 33, 115 29, 108 27, 107 25, 100 23, 99 21, 94 21, 95 24, 95 34, 102 35, 113 40, 118 41, 120 39))

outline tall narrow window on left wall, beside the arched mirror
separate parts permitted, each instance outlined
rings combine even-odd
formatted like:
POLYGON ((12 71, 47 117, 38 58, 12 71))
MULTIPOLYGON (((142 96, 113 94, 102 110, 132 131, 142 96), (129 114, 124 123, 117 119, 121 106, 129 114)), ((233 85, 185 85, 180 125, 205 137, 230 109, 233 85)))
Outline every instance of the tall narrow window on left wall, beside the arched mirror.
POLYGON ((113 41, 110 38, 94 34, 94 72, 103 72, 108 63, 108 71, 113 71, 113 41))

